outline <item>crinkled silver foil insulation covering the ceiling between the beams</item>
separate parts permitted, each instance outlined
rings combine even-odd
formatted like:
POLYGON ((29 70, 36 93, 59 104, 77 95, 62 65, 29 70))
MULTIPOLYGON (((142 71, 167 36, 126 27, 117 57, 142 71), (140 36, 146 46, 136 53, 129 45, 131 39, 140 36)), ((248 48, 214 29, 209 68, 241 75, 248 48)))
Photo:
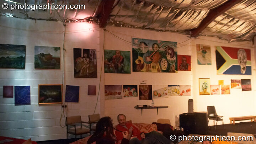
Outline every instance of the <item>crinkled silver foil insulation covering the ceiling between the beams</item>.
MULTIPOLYGON (((209 18, 211 10, 232 0, 115 0, 106 25, 171 31, 191 35, 209 18)), ((234 0, 233 0, 234 1, 234 0)), ((0 7, 0 15, 19 18, 76 22, 89 20, 98 23, 101 4, 109 0, 1 0, 11 6, 18 4, 85 5, 85 9, 10 10, 0 7)), ((106 11, 103 8, 102 15, 106 11)), ((216 11, 217 13, 219 11, 216 11)), ((213 36, 232 41, 251 41, 256 34, 256 0, 240 0, 199 32, 199 36, 213 36)))

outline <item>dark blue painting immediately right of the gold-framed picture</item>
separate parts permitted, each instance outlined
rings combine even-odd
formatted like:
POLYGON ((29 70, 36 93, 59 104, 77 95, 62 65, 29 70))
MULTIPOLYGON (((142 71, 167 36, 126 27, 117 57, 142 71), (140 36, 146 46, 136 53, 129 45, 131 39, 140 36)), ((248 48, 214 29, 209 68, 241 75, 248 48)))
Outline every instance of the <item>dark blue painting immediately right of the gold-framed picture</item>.
POLYGON ((79 101, 79 86, 66 85, 65 102, 79 101))

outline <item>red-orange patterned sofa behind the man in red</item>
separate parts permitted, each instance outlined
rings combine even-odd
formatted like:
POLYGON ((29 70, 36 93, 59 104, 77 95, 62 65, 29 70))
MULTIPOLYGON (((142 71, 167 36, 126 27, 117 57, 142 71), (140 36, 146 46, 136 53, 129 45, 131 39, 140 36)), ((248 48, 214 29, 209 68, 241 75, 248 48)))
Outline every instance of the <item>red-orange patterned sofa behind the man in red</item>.
MULTIPOLYGON (((131 121, 127 121, 127 123, 129 123, 131 121)), ((162 134, 161 131, 158 131, 158 128, 156 126, 156 124, 148 124, 148 123, 133 123, 133 125, 135 127, 137 127, 141 132, 144 132, 144 133, 149 133, 149 132, 152 132, 152 131, 157 131, 159 133, 162 134)), ((115 126, 114 126, 115 127, 115 126)), ((91 136, 89 137, 85 137, 85 138, 82 138, 82 139, 79 139, 73 143, 70 143, 70 144, 87 144, 87 141, 88 139, 90 138, 91 136)), ((95 143, 93 143, 95 144, 95 143)))

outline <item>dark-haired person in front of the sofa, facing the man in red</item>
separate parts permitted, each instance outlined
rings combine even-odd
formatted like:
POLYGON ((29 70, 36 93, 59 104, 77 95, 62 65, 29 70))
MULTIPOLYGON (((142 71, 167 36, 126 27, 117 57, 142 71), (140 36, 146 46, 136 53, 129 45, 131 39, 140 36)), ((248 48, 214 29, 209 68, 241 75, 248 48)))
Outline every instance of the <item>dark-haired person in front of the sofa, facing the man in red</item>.
MULTIPOLYGON (((128 144, 130 135, 128 131, 123 131, 121 144, 128 144)), ((116 136, 113 133, 113 124, 110 117, 101 118, 96 124, 94 134, 88 139, 87 144, 120 144, 116 141, 116 136)))

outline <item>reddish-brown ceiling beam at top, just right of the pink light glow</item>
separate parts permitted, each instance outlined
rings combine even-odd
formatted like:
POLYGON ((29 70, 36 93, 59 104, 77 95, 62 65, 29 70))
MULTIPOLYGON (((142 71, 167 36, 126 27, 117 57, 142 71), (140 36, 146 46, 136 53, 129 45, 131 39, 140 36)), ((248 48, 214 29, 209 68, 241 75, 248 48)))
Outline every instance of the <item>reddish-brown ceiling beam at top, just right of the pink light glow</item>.
POLYGON ((96 11, 96 17, 100 20, 100 27, 104 28, 107 24, 108 17, 111 13, 115 0, 102 0, 98 10, 96 11))

